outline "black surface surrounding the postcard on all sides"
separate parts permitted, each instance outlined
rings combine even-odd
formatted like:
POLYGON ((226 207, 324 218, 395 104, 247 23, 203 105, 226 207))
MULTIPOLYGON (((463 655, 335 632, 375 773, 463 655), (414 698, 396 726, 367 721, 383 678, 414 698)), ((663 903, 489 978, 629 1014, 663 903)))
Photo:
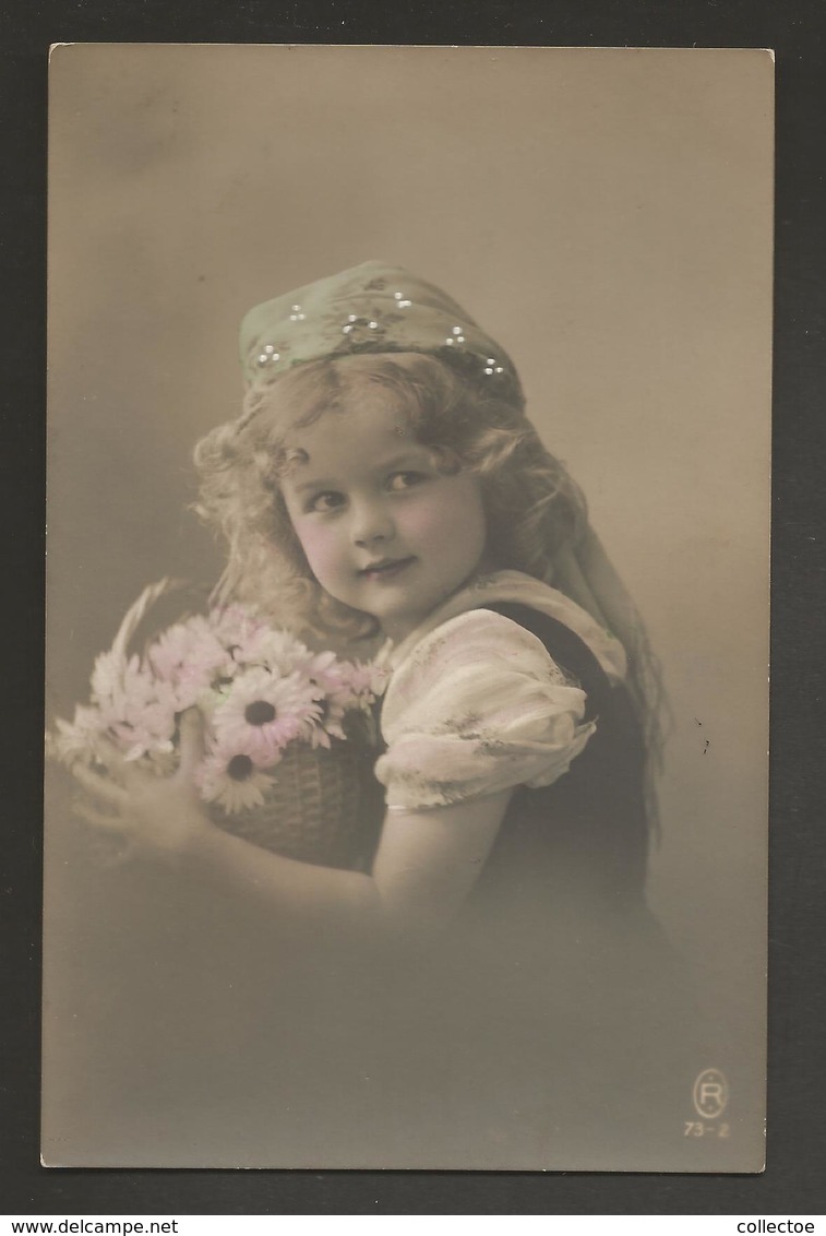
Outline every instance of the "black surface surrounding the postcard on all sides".
POLYGON ((16 0, 0 16, 0 1211, 826 1211, 826 7, 821 0, 16 0), (46 103, 52 42, 772 47, 778 194, 768 1167, 761 1177, 43 1169, 38 1164, 46 103))

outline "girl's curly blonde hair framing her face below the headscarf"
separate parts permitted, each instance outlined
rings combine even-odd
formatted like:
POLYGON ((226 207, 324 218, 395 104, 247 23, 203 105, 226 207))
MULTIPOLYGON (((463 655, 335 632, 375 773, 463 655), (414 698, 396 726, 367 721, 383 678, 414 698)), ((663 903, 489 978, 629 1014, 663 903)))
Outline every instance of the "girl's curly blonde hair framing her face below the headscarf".
POLYGON ((291 429, 346 414, 377 391, 446 472, 479 477, 491 564, 549 582, 553 555, 586 523, 585 502, 521 409, 433 356, 367 353, 309 361, 264 389, 251 388, 242 417, 195 447, 196 509, 228 549, 221 599, 256 603, 299 633, 375 633, 373 618, 335 601, 314 578, 280 480, 290 466, 291 429))

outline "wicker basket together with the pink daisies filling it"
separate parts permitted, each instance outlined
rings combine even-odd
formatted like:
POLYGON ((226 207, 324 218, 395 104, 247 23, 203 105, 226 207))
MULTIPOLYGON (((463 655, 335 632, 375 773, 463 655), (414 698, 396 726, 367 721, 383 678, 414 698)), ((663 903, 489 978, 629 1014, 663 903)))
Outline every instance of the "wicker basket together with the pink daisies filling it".
POLYGON ((130 608, 95 661, 90 702, 57 721, 48 753, 69 769, 100 769, 109 743, 165 776, 177 766, 180 714, 198 708, 205 753, 195 784, 215 823, 291 858, 357 864, 378 827, 372 707, 384 672, 314 653, 240 604, 185 618, 131 653, 170 587, 151 585, 130 608))

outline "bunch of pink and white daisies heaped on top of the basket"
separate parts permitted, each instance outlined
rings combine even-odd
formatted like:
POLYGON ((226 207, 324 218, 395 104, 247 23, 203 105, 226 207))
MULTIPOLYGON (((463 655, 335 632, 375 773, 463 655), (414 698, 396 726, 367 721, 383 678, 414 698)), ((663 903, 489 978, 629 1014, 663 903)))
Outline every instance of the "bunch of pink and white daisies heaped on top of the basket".
POLYGON ((228 606, 179 622, 147 649, 126 649, 157 588, 144 590, 101 654, 91 675, 91 701, 47 735, 48 754, 69 768, 106 763, 105 739, 128 760, 165 775, 177 763, 178 716, 198 706, 207 722, 209 750, 198 772, 201 794, 227 811, 257 806, 291 742, 330 747, 344 739, 346 714, 368 711, 386 685, 375 665, 312 653, 253 609, 228 606))

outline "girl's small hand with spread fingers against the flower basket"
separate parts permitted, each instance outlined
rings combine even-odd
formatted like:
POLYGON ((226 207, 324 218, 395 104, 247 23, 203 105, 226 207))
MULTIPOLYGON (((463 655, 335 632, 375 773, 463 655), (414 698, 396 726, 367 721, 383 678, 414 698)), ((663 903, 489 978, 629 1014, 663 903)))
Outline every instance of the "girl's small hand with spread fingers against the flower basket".
POLYGON ((126 842, 131 853, 175 860, 214 828, 194 782, 202 751, 202 723, 196 708, 180 718, 180 764, 173 776, 157 777, 136 768, 110 744, 111 775, 83 766, 74 770, 88 795, 75 805, 75 813, 126 842))

